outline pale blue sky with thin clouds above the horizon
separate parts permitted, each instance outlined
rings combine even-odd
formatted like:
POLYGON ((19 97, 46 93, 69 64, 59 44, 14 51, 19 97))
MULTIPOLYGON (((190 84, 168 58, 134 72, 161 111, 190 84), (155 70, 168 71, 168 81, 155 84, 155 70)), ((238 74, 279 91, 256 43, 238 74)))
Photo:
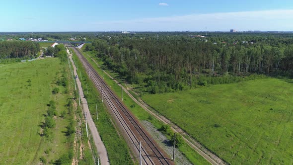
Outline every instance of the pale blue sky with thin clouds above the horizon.
POLYGON ((3 0, 0 22, 0 31, 293 31, 293 0, 3 0))

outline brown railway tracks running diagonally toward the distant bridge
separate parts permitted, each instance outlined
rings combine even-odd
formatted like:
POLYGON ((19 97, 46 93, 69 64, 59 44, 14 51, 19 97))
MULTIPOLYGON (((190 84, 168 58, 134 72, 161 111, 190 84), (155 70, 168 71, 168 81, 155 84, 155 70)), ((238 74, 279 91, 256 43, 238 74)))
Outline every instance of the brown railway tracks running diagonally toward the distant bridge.
POLYGON ((112 116, 115 116, 116 122, 119 123, 119 128, 123 132, 123 135, 125 138, 129 139, 128 144, 130 148, 133 149, 138 157, 140 151, 139 142, 141 142, 142 163, 146 165, 174 165, 174 162, 166 157, 166 154, 153 141, 134 115, 127 110, 125 105, 107 86, 85 57, 82 56, 80 51, 74 47, 73 50, 85 67, 90 79, 100 91, 108 107, 112 110, 112 116))

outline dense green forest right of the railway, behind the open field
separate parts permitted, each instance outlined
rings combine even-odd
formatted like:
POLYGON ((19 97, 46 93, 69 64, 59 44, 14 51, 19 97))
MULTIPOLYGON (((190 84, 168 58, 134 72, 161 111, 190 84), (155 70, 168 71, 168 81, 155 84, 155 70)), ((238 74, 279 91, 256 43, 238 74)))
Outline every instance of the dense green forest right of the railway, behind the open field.
POLYGON ((100 36, 94 51, 107 67, 150 93, 264 76, 293 77, 293 38, 285 34, 100 36))

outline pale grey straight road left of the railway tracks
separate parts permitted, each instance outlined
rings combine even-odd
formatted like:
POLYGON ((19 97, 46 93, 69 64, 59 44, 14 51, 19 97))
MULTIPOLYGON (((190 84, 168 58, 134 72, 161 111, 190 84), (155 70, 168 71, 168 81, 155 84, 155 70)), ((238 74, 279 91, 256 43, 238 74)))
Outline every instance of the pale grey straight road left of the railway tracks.
MULTIPOLYGON (((68 51, 69 53, 69 51, 68 51)), ((76 73, 76 67, 73 63, 73 60, 72 60, 72 54, 69 53, 69 58, 70 58, 70 61, 72 62, 73 64, 73 72, 74 72, 74 75, 77 75, 76 73)), ((87 105, 87 101, 86 99, 84 98, 84 95, 83 95, 83 91, 82 91, 82 87, 81 87, 81 83, 79 81, 79 79, 76 79, 76 84, 77 84, 77 88, 78 88, 78 91, 79 91, 79 94, 80 94, 80 99, 81 99, 81 104, 82 104, 82 111, 83 113, 86 113, 87 114, 87 125, 88 125, 88 128, 92 134, 92 138, 93 138, 93 141, 94 141, 94 144, 96 146, 96 149, 98 151, 98 155, 99 155, 99 158, 100 158, 100 161, 101 161, 101 165, 110 165, 109 164, 109 158, 108 158, 108 154, 107 154, 107 150, 101 140, 101 137, 99 135, 99 132, 91 118, 91 115, 90 115, 90 112, 89 112, 89 109, 88 109, 88 105, 87 105)))

